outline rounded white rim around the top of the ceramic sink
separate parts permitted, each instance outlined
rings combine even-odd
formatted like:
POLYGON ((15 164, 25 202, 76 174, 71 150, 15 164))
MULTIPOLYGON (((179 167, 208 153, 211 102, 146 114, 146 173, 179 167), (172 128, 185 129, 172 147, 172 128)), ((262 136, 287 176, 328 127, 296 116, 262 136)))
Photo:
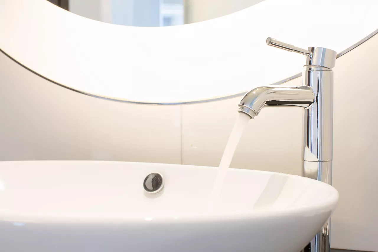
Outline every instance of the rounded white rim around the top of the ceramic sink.
MULTIPOLYGON (((190 167, 191 169, 211 169, 216 170, 218 167, 208 167, 208 166, 200 166, 200 165, 182 165, 182 164, 161 164, 161 163, 146 163, 146 162, 123 162, 123 161, 74 161, 74 160, 65 160, 65 161, 58 161, 58 160, 51 160, 51 161, 1 161, 0 168, 2 165, 6 165, 9 163, 12 164, 37 164, 37 163, 56 163, 56 162, 63 162, 63 163, 81 163, 81 164, 93 164, 93 163, 122 163, 122 164, 131 164, 131 165, 164 165, 167 166, 181 166, 181 167, 190 167)), ((237 171, 242 173, 262 173, 262 174, 276 174, 281 176, 288 176, 295 179, 310 179, 305 178, 302 176, 297 175, 290 175, 286 173, 278 173, 278 172, 268 172, 268 171, 260 171, 260 170, 249 170, 249 169, 237 169, 237 168, 229 168, 228 171, 237 171)), ((275 211, 251 211, 249 213, 242 212, 242 213, 180 213, 174 214, 174 216, 168 215, 154 215, 150 214, 147 218, 141 218, 140 215, 130 215, 124 213, 122 216, 119 215, 112 215, 112 218, 109 216, 105 216, 105 218, 101 219, 99 216, 90 216, 89 218, 83 218, 83 216, 73 217, 73 216, 46 216, 43 215, 15 215, 15 214, 2 214, 0 213, 0 221, 6 222, 13 222, 13 223, 49 223, 49 224, 137 224, 137 223, 204 223, 204 222, 219 222, 219 221, 256 221, 256 220, 264 220, 266 218, 274 219, 274 218, 285 218, 286 216, 295 216, 295 215, 308 215, 308 214, 316 214, 316 213, 324 213, 329 211, 330 214, 335 210, 335 207, 338 203, 339 193, 338 191, 321 181, 316 181, 311 179, 311 181, 315 183, 319 183, 319 185, 323 187, 328 187, 330 190, 330 195, 321 201, 319 204, 314 206, 301 206, 296 207, 295 209, 280 209, 275 211), (94 218, 93 218, 94 217, 94 218), (177 218, 178 217, 178 218, 177 218)), ((1 206, 0 206, 1 209, 1 206)))

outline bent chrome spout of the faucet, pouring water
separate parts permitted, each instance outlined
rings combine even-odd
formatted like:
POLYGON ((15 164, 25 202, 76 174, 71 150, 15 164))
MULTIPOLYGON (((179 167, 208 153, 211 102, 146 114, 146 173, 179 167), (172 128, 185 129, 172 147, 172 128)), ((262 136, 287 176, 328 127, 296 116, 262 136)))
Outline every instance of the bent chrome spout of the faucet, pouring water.
POLYGON ((310 107, 315 101, 311 87, 258 87, 246 93, 239 103, 239 113, 253 119, 264 106, 310 107))

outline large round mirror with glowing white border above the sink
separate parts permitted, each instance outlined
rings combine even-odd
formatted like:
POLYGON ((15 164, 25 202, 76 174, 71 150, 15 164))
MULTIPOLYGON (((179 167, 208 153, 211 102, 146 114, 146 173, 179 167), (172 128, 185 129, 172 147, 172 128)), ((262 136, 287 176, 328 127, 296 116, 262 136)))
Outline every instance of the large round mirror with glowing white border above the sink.
POLYGON ((225 99, 298 76, 305 57, 267 37, 342 55, 378 27, 370 0, 54 1, 76 14, 0 0, 0 50, 51 83, 139 104, 225 99), (154 25, 169 26, 140 27, 154 25))

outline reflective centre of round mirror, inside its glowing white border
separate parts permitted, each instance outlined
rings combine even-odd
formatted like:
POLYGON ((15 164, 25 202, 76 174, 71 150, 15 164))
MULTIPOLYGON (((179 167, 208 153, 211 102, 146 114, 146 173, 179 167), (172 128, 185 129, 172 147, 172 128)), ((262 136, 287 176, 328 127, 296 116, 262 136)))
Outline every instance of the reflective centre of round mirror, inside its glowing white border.
POLYGON ((77 15, 127 26, 172 26, 214 19, 263 0, 48 0, 77 15))

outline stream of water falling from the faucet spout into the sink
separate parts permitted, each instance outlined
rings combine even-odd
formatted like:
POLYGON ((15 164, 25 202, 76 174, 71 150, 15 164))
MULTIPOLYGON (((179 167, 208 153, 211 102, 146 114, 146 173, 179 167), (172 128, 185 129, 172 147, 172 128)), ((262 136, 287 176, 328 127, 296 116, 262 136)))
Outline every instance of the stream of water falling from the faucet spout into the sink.
POLYGON ((223 152, 222 159, 220 160, 217 176, 215 178, 214 186, 211 192, 211 198, 208 207, 209 211, 212 211, 214 203, 220 196, 222 184, 226 178, 227 169, 231 164, 237 144, 239 143, 239 140, 242 137, 245 128, 247 127, 249 119, 251 119, 251 117, 249 117, 248 115, 239 113, 234 128, 232 128, 231 135, 228 139, 225 151, 223 152))

